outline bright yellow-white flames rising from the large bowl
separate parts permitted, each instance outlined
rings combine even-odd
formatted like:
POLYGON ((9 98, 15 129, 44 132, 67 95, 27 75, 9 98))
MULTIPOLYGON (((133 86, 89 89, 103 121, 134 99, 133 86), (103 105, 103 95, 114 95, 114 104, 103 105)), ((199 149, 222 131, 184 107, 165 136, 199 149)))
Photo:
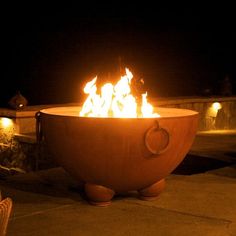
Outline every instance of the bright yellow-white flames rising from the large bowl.
POLYGON ((88 94, 86 101, 80 111, 80 116, 87 117, 159 117, 153 113, 153 106, 147 101, 147 92, 142 94, 141 114, 138 114, 138 105, 135 97, 131 94, 131 80, 133 74, 125 69, 126 74, 116 85, 104 84, 101 94, 97 94, 97 77, 88 82, 84 87, 84 93, 88 94))

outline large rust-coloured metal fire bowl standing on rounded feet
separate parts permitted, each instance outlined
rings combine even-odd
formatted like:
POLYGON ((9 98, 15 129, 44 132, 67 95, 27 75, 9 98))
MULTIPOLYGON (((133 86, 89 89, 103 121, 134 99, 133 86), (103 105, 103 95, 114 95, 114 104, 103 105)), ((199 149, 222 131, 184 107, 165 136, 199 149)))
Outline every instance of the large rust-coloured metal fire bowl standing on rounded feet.
POLYGON ((86 117, 83 110, 43 109, 39 131, 55 160, 84 183, 89 202, 99 206, 132 190, 144 200, 156 198, 197 130, 198 113, 191 110, 154 108, 152 114, 159 115, 131 118, 86 117))

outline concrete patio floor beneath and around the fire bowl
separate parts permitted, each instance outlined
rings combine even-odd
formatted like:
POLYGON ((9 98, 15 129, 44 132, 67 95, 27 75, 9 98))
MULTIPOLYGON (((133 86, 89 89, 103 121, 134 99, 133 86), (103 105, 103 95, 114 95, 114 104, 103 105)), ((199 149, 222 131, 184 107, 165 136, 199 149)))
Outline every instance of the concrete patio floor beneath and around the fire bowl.
POLYGON ((198 136, 154 201, 129 192, 92 206, 60 167, 9 176, 0 180, 3 197, 13 199, 7 235, 235 236, 235 138, 198 136))

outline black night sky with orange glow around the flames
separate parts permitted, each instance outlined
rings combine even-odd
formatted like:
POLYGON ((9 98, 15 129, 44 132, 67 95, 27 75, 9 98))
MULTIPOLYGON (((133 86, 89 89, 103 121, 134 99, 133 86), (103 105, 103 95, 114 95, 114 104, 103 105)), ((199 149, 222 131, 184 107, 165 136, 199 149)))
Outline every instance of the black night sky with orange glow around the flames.
POLYGON ((30 105, 77 102, 84 83, 121 65, 143 78, 149 96, 235 91, 236 27, 231 6, 157 8, 8 6, 2 24, 1 106, 20 90, 30 105))

